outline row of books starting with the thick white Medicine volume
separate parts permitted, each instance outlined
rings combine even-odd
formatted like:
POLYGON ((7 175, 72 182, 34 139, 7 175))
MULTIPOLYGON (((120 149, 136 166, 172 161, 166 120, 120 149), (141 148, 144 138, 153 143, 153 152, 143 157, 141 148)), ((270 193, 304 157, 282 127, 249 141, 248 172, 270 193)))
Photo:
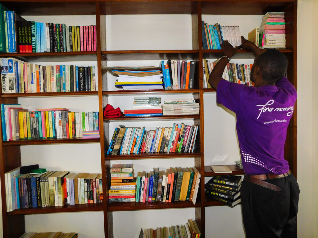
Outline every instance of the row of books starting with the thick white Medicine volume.
POLYGON ((95 66, 37 65, 0 58, 2 93, 98 91, 95 66))

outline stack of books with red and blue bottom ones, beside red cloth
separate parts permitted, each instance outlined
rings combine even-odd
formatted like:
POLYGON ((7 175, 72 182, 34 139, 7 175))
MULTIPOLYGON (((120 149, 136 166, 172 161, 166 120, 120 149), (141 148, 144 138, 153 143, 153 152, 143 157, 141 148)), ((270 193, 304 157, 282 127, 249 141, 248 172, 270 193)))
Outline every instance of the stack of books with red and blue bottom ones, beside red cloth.
POLYGON ((132 110, 124 110, 125 116, 162 116, 160 97, 135 97, 132 110))

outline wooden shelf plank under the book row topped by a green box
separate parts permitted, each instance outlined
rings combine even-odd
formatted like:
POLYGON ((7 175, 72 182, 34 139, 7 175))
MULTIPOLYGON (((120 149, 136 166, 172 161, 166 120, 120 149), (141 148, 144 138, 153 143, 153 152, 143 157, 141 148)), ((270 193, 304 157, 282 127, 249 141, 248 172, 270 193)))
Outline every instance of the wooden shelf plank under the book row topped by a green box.
POLYGON ((38 208, 20 208, 8 215, 29 215, 29 214, 44 214, 44 213, 58 213, 58 212, 89 212, 89 211, 102 211, 103 203, 90 203, 90 204, 75 204, 64 205, 63 207, 38 207, 38 208))

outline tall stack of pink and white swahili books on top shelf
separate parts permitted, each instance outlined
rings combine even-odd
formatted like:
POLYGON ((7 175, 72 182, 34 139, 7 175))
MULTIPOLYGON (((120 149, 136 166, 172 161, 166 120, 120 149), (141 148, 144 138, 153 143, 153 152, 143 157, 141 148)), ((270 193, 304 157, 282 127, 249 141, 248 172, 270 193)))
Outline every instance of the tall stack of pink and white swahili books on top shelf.
POLYGON ((259 27, 259 48, 286 48, 285 12, 267 12, 259 27))

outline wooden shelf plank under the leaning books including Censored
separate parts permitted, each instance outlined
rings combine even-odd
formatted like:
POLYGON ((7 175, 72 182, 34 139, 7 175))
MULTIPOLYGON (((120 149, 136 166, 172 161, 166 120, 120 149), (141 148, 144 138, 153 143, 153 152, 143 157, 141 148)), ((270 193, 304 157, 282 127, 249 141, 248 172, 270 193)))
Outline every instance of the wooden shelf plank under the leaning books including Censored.
POLYGON ((140 153, 132 155, 106 155, 106 160, 159 159, 200 157, 200 153, 140 153))

